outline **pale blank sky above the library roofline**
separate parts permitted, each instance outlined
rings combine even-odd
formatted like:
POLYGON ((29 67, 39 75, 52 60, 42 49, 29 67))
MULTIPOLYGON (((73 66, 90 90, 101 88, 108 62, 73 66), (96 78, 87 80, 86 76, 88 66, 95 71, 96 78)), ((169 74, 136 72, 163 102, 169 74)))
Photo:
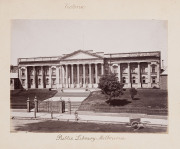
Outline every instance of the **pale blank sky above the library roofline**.
POLYGON ((11 64, 17 58, 76 50, 105 53, 161 51, 167 66, 167 21, 13 20, 11 64))

